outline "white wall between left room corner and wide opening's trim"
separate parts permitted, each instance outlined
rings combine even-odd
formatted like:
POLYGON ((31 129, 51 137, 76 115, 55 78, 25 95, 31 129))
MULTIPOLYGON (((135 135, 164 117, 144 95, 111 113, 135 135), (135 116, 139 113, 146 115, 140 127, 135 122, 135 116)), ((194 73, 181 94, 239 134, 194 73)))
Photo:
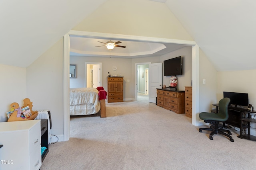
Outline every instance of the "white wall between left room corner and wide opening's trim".
POLYGON ((63 40, 27 68, 27 96, 34 110, 50 110, 52 134, 63 134, 63 40))

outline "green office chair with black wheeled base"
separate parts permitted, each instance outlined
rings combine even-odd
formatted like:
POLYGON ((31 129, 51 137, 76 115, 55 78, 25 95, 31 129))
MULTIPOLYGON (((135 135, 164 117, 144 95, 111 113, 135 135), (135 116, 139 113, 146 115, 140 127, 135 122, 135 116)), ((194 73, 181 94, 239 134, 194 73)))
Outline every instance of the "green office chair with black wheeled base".
POLYGON ((229 130, 222 129, 223 127, 218 127, 218 124, 221 122, 224 122, 228 120, 228 104, 230 102, 229 98, 223 98, 219 101, 219 111, 218 113, 208 113, 208 112, 202 112, 199 113, 200 119, 204 120, 206 123, 210 123, 214 126, 210 126, 210 128, 199 128, 199 132, 202 132, 202 130, 212 131, 210 133, 210 140, 213 140, 212 135, 220 133, 222 135, 225 135, 229 138, 231 142, 234 142, 234 139, 230 136, 232 135, 229 130), (225 133, 227 132, 227 133, 225 133))

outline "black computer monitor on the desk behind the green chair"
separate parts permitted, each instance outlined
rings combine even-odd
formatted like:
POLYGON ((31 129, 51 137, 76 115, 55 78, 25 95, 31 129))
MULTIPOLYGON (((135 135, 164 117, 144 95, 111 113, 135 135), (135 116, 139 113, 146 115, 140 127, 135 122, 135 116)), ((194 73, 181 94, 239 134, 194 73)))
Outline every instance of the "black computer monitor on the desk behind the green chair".
POLYGON ((223 92, 223 97, 230 98, 229 105, 248 106, 249 104, 248 93, 223 92))

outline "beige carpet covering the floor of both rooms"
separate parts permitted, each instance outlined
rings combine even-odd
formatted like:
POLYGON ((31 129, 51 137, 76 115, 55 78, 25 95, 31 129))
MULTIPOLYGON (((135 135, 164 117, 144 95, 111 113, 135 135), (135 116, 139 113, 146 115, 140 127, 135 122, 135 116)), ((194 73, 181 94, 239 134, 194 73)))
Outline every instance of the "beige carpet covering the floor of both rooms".
POLYGON ((191 119, 156 104, 106 103, 106 118, 72 117, 70 140, 50 145, 40 170, 252 170, 256 141, 209 139, 191 119))

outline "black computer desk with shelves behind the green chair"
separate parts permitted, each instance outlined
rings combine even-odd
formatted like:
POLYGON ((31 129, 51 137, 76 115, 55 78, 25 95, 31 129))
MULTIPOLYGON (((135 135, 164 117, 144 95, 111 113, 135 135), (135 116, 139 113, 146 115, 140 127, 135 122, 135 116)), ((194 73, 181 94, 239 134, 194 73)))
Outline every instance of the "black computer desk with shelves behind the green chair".
MULTIPOLYGON (((219 104, 212 104, 213 106, 216 106, 216 109, 211 110, 213 113, 218 113, 218 108, 219 108, 219 104)), ((250 119, 250 118, 244 118, 243 117, 243 113, 247 113, 247 117, 250 117, 250 113, 256 113, 256 111, 247 111, 247 110, 242 110, 239 107, 236 109, 235 107, 232 108, 228 108, 228 116, 229 117, 234 117, 233 113, 238 113, 238 123, 230 123, 230 121, 225 121, 223 122, 223 125, 225 126, 225 124, 228 125, 232 125, 235 127, 239 127, 240 128, 240 135, 237 136, 241 139, 249 139, 252 141, 256 141, 256 137, 253 135, 250 135, 250 122, 254 122, 256 123, 256 119, 250 119), (246 124, 243 124, 243 121, 246 122, 246 124), (243 129, 244 128, 248 128, 248 133, 243 135, 243 129)), ((234 121, 235 122, 235 121, 234 121)))

